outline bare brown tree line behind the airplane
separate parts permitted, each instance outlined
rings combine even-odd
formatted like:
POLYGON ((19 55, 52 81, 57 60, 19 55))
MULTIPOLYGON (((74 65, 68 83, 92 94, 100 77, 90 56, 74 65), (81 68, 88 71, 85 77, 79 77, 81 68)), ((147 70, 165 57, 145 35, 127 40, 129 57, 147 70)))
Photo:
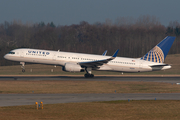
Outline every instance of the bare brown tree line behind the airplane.
POLYGON ((53 22, 45 24, 19 21, 0 24, 0 65, 14 65, 3 56, 16 48, 36 48, 102 54, 108 50, 112 55, 119 49, 118 56, 138 58, 146 54, 166 36, 176 36, 169 54, 180 53, 180 24, 170 22, 162 25, 156 18, 143 16, 137 20, 117 19, 115 23, 89 24, 82 21, 69 26, 56 26, 53 22), (133 21, 133 22, 128 22, 133 21))

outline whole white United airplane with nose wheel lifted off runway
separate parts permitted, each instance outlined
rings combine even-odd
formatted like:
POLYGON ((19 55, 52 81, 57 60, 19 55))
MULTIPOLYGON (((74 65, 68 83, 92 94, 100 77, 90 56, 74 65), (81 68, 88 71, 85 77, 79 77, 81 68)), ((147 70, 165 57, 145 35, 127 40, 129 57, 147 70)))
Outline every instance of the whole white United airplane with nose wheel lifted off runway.
POLYGON ((11 50, 4 58, 19 61, 22 72, 25 72, 25 62, 51 64, 62 66, 66 72, 86 72, 84 77, 93 78, 92 70, 117 72, 148 72, 170 69, 171 65, 164 60, 175 40, 173 36, 165 37, 159 44, 141 58, 116 57, 119 50, 112 56, 83 54, 74 52, 19 48, 11 50))

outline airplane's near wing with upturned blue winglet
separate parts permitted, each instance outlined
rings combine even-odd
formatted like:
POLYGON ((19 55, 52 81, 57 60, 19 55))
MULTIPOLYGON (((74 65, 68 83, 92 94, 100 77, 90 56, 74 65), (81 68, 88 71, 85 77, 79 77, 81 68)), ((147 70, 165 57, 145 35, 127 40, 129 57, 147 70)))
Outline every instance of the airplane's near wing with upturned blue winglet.
POLYGON ((102 66, 103 64, 108 63, 109 61, 113 60, 116 58, 117 53, 118 53, 119 49, 113 54, 112 57, 108 58, 108 59, 103 59, 103 60, 97 60, 97 61, 88 61, 88 62, 79 62, 78 64, 81 67, 91 67, 91 68, 98 68, 98 66, 102 66))

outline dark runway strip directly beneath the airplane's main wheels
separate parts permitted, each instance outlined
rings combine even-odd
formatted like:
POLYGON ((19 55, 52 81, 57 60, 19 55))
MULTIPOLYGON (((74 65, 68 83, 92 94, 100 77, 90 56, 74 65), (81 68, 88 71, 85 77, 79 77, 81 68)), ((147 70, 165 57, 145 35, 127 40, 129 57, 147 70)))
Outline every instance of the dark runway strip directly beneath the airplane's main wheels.
POLYGON ((82 81, 147 81, 180 83, 180 76, 95 76, 84 78, 83 76, 0 76, 1 80, 82 80, 82 81))

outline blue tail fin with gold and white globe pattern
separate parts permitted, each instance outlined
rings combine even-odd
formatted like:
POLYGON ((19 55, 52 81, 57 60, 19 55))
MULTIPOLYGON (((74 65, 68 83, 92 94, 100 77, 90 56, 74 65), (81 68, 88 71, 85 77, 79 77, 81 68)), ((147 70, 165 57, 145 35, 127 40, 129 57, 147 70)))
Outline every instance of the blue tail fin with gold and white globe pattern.
POLYGON ((153 49, 146 53, 141 60, 163 63, 176 37, 167 36, 153 49))

